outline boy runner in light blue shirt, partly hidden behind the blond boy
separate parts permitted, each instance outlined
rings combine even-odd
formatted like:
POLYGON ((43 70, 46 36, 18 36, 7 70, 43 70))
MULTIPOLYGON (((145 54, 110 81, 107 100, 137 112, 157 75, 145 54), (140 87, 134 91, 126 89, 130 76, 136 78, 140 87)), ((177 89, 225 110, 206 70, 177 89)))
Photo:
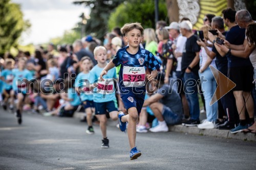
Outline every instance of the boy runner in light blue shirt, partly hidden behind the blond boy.
POLYGON ((75 88, 78 94, 80 94, 80 99, 82 101, 82 105, 84 109, 86 109, 86 120, 88 124, 88 129, 86 133, 94 134, 93 123, 92 123, 92 113, 94 112, 94 103, 93 96, 90 90, 89 83, 89 74, 90 69, 92 68, 93 63, 90 57, 83 57, 80 61, 80 68, 82 72, 80 72, 76 76, 75 88))

